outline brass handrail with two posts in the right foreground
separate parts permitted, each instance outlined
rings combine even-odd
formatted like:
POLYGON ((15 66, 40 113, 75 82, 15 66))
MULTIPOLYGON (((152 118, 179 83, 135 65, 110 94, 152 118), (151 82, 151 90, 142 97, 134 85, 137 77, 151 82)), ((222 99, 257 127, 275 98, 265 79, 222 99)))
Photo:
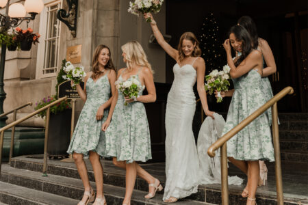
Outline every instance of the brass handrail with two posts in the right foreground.
POLYGON ((285 87, 281 92, 276 94, 273 98, 268 100, 262 107, 257 109, 249 115, 245 120, 240 122, 231 131, 220 137, 214 142, 209 149, 207 154, 214 157, 215 151, 220 149, 220 164, 221 164, 221 182, 222 182, 222 205, 229 204, 229 193, 228 193, 228 169, 227 169, 227 141, 234 135, 242 130, 245 126, 251 123, 255 118, 264 113, 267 109, 272 107, 272 137, 274 142, 274 156, 275 156, 275 173, 276 173, 276 187, 277 187, 277 204, 283 204, 283 187, 282 187, 282 175, 281 175, 281 159, 280 159, 280 146, 279 146, 279 128, 278 128, 278 111, 277 102, 281 100, 287 94, 293 94, 294 90, 292 87, 285 87))

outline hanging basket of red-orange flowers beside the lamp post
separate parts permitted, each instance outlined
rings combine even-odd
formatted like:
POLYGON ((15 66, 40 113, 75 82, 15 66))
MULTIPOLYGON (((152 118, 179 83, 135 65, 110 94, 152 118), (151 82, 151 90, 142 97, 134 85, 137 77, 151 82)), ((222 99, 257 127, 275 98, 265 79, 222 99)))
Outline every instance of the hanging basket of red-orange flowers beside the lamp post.
POLYGON ((40 38, 40 34, 33 33, 31 28, 26 30, 17 27, 16 29, 16 41, 21 44, 21 51, 30 51, 32 43, 38 43, 38 38, 40 38))

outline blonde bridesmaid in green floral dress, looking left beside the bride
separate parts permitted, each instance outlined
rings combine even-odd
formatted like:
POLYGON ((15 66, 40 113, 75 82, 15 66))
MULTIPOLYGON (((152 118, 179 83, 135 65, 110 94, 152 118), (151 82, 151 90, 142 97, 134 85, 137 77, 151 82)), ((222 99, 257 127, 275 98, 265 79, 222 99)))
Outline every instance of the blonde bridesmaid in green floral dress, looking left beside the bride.
POLYGON ((161 191, 162 185, 136 163, 152 159, 149 124, 143 103, 156 100, 153 70, 138 42, 124 44, 122 51, 127 68, 118 71, 118 81, 135 78, 143 85, 143 89, 146 87, 148 94, 142 96, 142 89, 137 98, 127 99, 117 90, 102 129, 106 135, 107 154, 114 156, 114 165, 126 169, 123 204, 130 205, 136 175, 149 183, 149 194, 145 196, 148 199, 155 196, 157 189, 161 191), (129 104, 124 105, 125 101, 129 104))

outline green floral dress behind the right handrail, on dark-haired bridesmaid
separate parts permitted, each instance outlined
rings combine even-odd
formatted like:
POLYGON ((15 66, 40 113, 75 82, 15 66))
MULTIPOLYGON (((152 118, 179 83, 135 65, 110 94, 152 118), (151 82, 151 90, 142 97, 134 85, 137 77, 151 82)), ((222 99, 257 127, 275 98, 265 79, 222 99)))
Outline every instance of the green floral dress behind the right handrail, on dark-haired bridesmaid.
MULTIPOLYGON (((235 91, 222 136, 266 102, 260 86, 261 75, 256 70, 232 80, 235 91)), ((259 115, 227 141, 227 156, 243 161, 274 161, 272 135, 266 113, 259 115)))

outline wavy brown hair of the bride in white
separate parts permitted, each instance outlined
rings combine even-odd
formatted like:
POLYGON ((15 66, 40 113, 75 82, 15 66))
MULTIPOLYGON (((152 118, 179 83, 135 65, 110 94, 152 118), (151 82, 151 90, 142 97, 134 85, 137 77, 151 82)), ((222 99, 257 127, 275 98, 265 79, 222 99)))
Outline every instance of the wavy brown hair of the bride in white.
POLYGON ((184 52, 182 51, 182 44, 183 40, 190 40, 192 44, 196 44, 194 47, 194 51, 192 51, 192 57, 198 57, 201 56, 201 49, 199 48, 199 42, 194 33, 192 32, 185 32, 182 34, 180 40, 179 40, 179 45, 177 46, 177 51, 179 52, 179 61, 182 61, 185 57, 184 52))

